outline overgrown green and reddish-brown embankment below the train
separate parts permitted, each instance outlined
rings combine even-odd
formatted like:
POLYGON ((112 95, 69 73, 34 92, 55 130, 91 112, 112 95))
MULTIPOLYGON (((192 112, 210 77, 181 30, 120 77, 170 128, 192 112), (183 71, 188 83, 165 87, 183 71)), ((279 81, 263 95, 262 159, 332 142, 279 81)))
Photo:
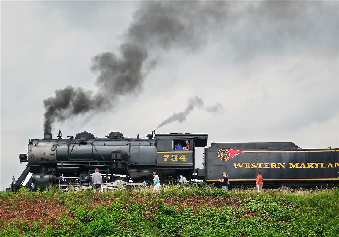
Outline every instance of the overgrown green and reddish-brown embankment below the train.
POLYGON ((166 186, 0 194, 0 236, 339 236, 339 189, 223 192, 166 186))

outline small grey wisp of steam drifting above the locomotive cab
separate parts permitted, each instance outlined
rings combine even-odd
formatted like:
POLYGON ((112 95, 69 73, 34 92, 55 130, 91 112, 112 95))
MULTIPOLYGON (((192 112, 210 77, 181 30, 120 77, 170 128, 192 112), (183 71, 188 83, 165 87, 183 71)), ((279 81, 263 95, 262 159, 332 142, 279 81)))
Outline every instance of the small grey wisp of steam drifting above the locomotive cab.
POLYGON ((182 123, 186 120, 187 115, 189 115, 194 108, 202 108, 207 112, 213 112, 213 113, 217 113, 217 114, 222 114, 223 113, 223 107, 220 103, 217 103, 214 106, 206 106, 204 107, 204 102, 202 101, 202 99, 198 96, 195 97, 190 97, 187 100, 187 107, 185 108, 184 111, 180 112, 180 113, 174 113, 172 116, 168 117, 167 119, 165 119, 164 121, 162 121, 158 126, 157 129, 159 127, 162 127, 168 123, 172 123, 175 121, 178 121, 179 123, 182 123))

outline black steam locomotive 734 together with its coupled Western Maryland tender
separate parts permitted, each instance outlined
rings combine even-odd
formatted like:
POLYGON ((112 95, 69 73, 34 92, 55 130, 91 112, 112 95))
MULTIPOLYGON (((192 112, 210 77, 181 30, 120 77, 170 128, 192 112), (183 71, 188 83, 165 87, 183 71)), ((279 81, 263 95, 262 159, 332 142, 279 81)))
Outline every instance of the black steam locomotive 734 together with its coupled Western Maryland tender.
POLYGON ((20 154, 26 169, 8 188, 16 191, 29 173, 25 185, 31 190, 50 185, 91 183, 96 168, 103 179, 114 182, 153 183, 157 172, 162 182, 203 180, 219 183, 223 172, 230 176, 230 186, 254 186, 259 171, 265 186, 338 185, 339 149, 300 149, 293 143, 212 143, 205 148, 203 169, 195 168, 195 149, 207 145, 208 134, 148 134, 146 138, 125 138, 111 132, 105 138, 82 132, 75 137, 30 139, 27 154, 20 154), (176 144, 188 141, 189 150, 177 150, 176 144))

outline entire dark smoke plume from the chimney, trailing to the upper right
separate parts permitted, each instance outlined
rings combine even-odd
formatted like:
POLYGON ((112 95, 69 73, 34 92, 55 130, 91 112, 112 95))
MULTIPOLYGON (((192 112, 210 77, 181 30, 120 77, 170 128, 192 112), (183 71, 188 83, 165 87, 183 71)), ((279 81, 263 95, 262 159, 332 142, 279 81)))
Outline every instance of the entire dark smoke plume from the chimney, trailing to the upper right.
MULTIPOLYGON (((329 17, 337 24, 338 4, 333 2, 325 7, 334 9, 329 17)), ((51 132, 55 121, 110 108, 120 96, 137 95, 145 75, 169 50, 192 53, 207 41, 221 40, 235 49, 228 54, 232 60, 303 50, 337 56, 338 50, 330 50, 338 48, 337 31, 318 20, 324 17, 323 5, 321 1, 141 1, 119 55, 103 52, 93 58, 96 92, 72 86, 57 90, 55 97, 44 101, 44 131, 51 132)), ((215 109, 218 105, 209 108, 215 109)))

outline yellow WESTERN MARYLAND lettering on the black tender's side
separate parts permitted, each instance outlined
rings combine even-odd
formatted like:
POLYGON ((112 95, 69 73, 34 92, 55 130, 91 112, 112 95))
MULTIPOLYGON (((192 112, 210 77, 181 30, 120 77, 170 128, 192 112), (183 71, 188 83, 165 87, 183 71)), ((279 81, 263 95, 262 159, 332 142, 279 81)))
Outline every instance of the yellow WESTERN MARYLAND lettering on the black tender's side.
POLYGON ((337 168, 337 162, 313 162, 313 163, 233 163, 236 169, 280 169, 280 168, 337 168))

